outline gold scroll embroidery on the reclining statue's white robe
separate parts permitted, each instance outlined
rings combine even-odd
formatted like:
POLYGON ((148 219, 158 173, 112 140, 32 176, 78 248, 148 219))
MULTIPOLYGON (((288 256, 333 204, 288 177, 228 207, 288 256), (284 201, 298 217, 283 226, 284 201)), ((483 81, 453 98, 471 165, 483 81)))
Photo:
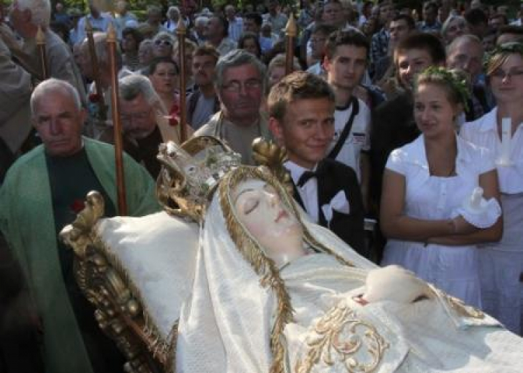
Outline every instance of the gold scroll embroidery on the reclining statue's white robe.
POLYGON ((306 344, 305 358, 298 360, 295 373, 310 373, 315 365, 317 372, 328 367, 336 367, 336 372, 374 372, 389 347, 372 324, 343 302, 317 321, 306 344))

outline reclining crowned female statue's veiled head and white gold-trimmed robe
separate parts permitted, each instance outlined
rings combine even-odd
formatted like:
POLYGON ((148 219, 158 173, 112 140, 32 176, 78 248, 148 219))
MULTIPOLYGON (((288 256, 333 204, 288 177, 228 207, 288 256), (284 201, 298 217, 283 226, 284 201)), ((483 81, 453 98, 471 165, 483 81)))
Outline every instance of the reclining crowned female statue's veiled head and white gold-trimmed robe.
POLYGON ((176 372, 522 372, 523 340, 303 218, 262 168, 206 208, 176 372))

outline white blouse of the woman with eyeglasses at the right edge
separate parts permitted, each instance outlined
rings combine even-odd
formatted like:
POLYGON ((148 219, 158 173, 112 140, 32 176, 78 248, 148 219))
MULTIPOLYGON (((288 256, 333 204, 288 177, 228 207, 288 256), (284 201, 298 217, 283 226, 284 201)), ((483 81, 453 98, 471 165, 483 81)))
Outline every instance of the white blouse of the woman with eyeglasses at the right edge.
MULTIPOLYGON (((497 107, 476 121, 465 123, 460 136, 469 142, 490 149, 494 162, 501 156, 501 140, 497 130, 497 107)), ((515 195, 523 192, 523 129, 517 126, 510 142, 510 165, 497 165, 499 189, 515 195)))

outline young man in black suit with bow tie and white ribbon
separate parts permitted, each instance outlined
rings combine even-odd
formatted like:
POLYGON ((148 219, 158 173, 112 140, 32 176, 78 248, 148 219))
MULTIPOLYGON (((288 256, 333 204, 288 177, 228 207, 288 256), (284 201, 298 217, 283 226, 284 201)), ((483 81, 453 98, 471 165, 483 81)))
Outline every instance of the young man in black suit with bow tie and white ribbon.
POLYGON ((312 220, 368 257, 356 173, 325 158, 334 135, 334 109, 334 93, 323 79, 292 73, 269 93, 269 128, 287 149, 285 167, 294 182, 296 201, 312 220))

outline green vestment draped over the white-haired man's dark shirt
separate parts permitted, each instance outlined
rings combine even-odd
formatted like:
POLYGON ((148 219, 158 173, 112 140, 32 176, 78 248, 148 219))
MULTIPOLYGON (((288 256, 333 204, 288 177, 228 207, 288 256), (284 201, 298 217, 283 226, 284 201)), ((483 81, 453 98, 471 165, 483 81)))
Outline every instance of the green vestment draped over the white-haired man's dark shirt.
MULTIPOLYGON (((84 146, 116 206, 114 147, 92 139, 84 139, 84 146)), ((159 211, 149 173, 128 155, 123 160, 128 214, 159 211)), ((24 268, 43 320, 46 372, 93 373, 61 273, 43 146, 22 156, 6 175, 0 189, 0 229, 24 268)))

